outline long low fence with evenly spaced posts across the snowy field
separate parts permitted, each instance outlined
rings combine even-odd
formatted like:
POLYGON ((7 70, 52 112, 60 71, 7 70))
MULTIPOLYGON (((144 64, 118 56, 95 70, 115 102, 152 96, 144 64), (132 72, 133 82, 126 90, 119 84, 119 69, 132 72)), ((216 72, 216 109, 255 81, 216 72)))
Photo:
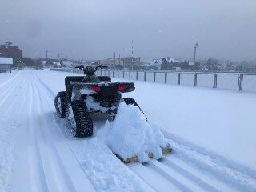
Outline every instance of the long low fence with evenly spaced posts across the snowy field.
MULTIPOLYGON (((78 69, 51 69, 82 74, 78 69)), ((183 86, 204 86, 214 89, 256 91, 256 74, 170 72, 146 70, 98 70, 97 75, 144 82, 159 82, 183 86)))

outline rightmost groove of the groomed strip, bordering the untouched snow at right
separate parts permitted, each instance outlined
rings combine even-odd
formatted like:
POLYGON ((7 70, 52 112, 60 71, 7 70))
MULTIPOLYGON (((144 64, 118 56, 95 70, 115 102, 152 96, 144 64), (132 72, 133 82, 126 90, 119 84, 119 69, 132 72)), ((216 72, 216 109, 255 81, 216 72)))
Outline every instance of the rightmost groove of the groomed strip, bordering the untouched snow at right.
POLYGON ((175 157, 180 159, 181 162, 188 162, 190 166, 210 174, 212 178, 218 179, 219 182, 228 184, 230 191, 256 190, 256 179, 250 177, 250 174, 232 169, 230 166, 216 161, 216 158, 201 154, 197 150, 192 150, 189 146, 184 146, 172 140, 170 142, 174 147, 175 157))

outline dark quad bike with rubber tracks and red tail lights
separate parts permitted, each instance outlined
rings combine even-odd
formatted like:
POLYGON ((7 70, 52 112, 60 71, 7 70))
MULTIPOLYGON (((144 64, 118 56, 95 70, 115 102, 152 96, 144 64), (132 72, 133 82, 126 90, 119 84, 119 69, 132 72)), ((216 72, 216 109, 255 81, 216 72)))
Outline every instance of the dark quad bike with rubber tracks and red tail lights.
MULTIPOLYGON (((110 114, 114 119, 120 102, 138 106, 133 98, 122 98, 122 93, 135 89, 132 82, 111 82, 108 76, 96 76, 98 69, 106 66, 77 66, 85 76, 65 78, 66 91, 58 92, 54 104, 60 118, 66 118, 67 126, 75 137, 93 134, 91 114, 110 114)), ((141 110, 141 109, 140 109, 141 110)))

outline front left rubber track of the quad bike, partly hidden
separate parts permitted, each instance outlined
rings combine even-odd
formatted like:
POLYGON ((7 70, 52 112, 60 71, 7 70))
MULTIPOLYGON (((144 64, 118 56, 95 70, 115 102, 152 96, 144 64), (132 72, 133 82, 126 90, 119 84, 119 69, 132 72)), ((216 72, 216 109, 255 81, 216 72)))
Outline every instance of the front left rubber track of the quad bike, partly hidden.
POLYGON ((58 92, 54 99, 55 109, 60 118, 66 118, 66 91, 58 92))

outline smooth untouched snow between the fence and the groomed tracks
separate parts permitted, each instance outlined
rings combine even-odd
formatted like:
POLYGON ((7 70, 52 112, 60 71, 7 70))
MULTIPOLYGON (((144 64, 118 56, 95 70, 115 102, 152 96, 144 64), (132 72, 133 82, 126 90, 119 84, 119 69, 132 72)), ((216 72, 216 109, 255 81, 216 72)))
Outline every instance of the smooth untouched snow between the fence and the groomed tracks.
MULTIPOLYGON (((55 93, 65 90, 62 82, 70 75, 43 71, 37 74, 55 93), (54 84, 50 76, 54 76, 54 84)), ((114 78, 113 81, 123 82, 123 79, 114 78)), ((136 88, 124 97, 134 98, 150 122, 171 134, 175 141, 200 148, 203 153, 218 154, 256 171, 254 93, 126 81, 134 82, 136 88)))

